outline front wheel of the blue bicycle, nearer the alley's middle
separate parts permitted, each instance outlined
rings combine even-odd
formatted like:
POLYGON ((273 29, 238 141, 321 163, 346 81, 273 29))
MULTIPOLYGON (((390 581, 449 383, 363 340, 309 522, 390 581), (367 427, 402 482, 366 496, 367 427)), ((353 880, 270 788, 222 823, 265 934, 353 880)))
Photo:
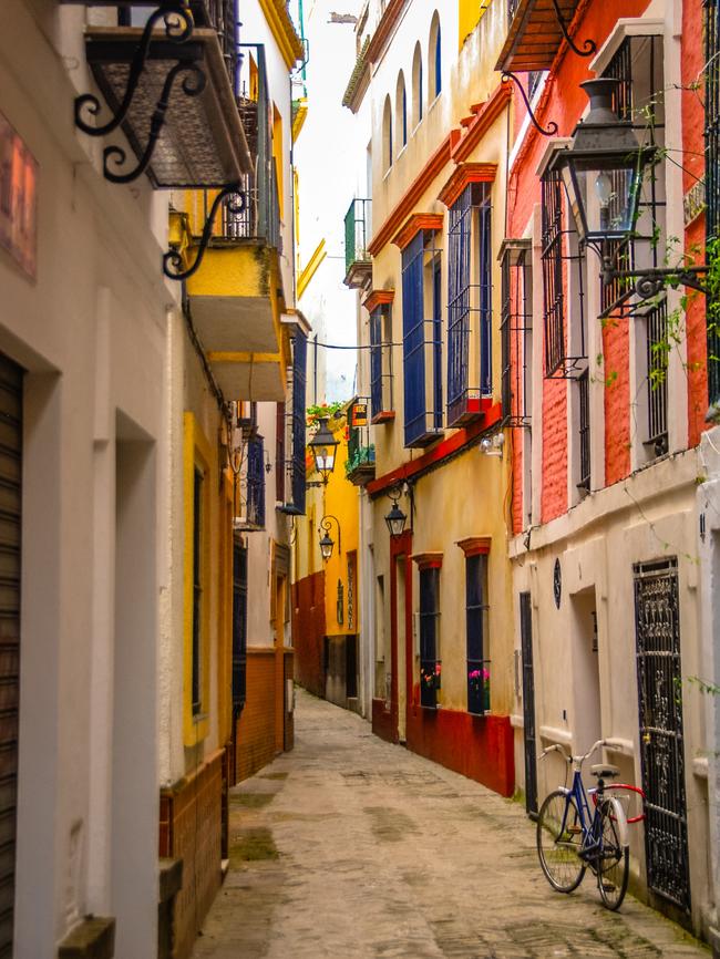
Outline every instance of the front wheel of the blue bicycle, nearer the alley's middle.
POLYGON ((585 864, 578 856, 582 843, 575 801, 556 790, 545 798, 537 816, 537 855, 547 881, 558 893, 572 893, 583 881, 585 864))

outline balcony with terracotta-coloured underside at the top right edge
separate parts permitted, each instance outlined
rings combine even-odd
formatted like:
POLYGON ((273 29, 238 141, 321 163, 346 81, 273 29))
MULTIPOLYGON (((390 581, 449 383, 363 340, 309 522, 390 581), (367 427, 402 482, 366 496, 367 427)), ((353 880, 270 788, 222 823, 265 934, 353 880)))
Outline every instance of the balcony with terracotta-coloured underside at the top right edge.
POLYGON ((579 6, 580 0, 508 0, 510 28, 495 70, 549 70, 579 6))

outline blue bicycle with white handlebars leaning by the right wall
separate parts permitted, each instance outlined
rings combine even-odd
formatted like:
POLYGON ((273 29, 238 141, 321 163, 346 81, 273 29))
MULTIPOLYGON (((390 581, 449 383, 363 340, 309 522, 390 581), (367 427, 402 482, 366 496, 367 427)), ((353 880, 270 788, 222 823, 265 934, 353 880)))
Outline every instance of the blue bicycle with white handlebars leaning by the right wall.
POLYGON ((598 740, 583 756, 568 755, 559 744, 543 750, 541 759, 558 752, 572 766, 573 784, 554 790, 541 806, 537 855, 548 883, 558 893, 577 889, 589 866, 603 904, 615 911, 625 898, 630 872, 625 810, 617 796, 605 792, 605 780, 619 775, 619 770, 609 763, 594 765, 590 773, 597 776, 597 787, 586 792, 583 784, 583 763, 604 745, 605 740, 598 740), (594 814, 588 794, 596 801, 594 814))

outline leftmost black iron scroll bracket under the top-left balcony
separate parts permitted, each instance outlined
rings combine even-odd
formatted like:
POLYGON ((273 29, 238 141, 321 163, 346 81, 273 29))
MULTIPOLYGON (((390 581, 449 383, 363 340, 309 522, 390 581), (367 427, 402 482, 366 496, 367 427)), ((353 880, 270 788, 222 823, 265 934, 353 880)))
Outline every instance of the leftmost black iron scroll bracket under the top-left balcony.
POLYGON ((130 65, 125 94, 111 120, 101 126, 89 123, 83 118, 83 114, 90 117, 97 117, 102 109, 100 100, 93 93, 83 93, 81 96, 75 97, 75 126, 82 130, 83 133, 86 133, 89 136, 106 136, 109 133, 117 130, 123 120, 125 120, 150 55, 153 31, 161 20, 165 23, 165 39, 172 43, 185 43, 193 35, 195 23, 193 14, 187 7, 187 0, 161 0, 160 7, 151 13, 145 24, 140 44, 130 65))

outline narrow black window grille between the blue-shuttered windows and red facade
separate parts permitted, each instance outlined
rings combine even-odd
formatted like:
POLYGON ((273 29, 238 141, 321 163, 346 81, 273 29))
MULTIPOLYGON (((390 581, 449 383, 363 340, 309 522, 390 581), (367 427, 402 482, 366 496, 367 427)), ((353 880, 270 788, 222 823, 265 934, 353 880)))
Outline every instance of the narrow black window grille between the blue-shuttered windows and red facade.
POLYGON ((533 267, 529 239, 506 239, 501 249, 502 404, 506 426, 529 426, 533 355, 533 267))

